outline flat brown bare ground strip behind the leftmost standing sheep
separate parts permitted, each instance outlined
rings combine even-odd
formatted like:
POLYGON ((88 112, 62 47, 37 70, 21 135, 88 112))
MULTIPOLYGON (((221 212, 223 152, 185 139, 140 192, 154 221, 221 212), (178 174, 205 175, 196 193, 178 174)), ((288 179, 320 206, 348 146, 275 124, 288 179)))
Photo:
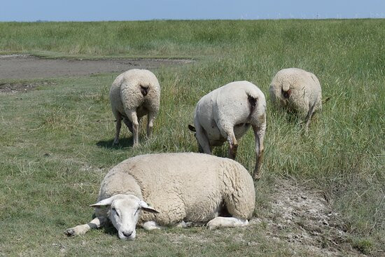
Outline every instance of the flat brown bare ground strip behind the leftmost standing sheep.
POLYGON ((66 60, 41 59, 31 55, 0 55, 0 79, 57 78, 84 76, 128 69, 157 69, 161 66, 192 63, 193 60, 142 59, 142 60, 66 60))

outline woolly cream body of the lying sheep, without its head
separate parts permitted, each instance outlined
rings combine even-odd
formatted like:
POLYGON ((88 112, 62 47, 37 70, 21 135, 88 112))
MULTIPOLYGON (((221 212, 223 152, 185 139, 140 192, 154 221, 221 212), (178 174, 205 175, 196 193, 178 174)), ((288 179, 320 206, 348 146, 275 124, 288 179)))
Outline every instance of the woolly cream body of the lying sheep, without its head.
MULTIPOLYGON (((98 201, 116 194, 135 195, 159 211, 142 213, 139 224, 207 222, 223 204, 232 216, 248 219, 255 206, 247 170, 234 160, 202 153, 139 155, 120 162, 102 181, 98 201)), ((106 216, 104 209, 95 214, 106 216)))

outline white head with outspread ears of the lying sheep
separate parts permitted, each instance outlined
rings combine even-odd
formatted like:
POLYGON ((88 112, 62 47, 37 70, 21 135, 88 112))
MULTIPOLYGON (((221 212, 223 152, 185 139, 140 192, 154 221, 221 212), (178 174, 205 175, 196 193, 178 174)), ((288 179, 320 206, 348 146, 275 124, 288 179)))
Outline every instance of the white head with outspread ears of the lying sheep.
POLYGON ((158 213, 134 195, 113 195, 90 206, 109 208, 109 219, 118 230, 119 238, 129 240, 133 240, 137 235, 135 228, 142 210, 158 213))

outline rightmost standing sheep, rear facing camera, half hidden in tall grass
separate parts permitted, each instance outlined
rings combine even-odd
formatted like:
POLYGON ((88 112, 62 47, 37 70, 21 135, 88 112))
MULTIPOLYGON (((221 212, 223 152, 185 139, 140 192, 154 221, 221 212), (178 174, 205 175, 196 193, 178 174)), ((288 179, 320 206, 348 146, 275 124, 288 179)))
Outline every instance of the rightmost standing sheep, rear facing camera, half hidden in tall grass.
POLYGON ((269 92, 273 104, 288 111, 296 111, 304 118, 305 132, 313 113, 322 109, 318 78, 303 69, 288 68, 278 71, 272 79, 269 92))

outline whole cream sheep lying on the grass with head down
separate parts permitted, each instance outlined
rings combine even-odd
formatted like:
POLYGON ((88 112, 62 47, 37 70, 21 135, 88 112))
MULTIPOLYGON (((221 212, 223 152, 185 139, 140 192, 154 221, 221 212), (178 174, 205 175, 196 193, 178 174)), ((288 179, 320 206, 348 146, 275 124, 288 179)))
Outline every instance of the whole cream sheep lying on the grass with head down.
POLYGON ((66 235, 83 235, 109 220, 120 239, 134 239, 137 225, 145 230, 207 222, 209 229, 244 226, 253 215, 255 188, 247 170, 228 158, 204 153, 137 155, 106 174, 97 203, 90 206, 96 218, 67 229, 66 235))

